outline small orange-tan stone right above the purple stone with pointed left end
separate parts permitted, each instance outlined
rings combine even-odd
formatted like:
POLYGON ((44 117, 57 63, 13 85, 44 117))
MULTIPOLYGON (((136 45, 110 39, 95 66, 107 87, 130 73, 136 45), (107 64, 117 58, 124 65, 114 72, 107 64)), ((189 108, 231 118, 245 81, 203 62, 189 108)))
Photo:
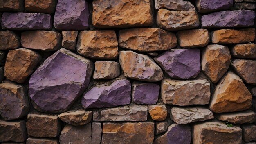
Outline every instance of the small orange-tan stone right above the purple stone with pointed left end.
POLYGON ((210 34, 207 29, 178 31, 177 39, 183 48, 204 47, 209 43, 210 34))

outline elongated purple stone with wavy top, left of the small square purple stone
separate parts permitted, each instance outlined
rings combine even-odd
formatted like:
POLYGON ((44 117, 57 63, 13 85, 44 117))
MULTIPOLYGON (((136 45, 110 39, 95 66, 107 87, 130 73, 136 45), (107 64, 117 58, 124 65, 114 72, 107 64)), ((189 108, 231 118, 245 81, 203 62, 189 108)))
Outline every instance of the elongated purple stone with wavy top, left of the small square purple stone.
POLYGON ((126 79, 116 80, 112 84, 97 85, 82 98, 82 106, 87 108, 115 107, 128 105, 131 99, 131 83, 126 79))

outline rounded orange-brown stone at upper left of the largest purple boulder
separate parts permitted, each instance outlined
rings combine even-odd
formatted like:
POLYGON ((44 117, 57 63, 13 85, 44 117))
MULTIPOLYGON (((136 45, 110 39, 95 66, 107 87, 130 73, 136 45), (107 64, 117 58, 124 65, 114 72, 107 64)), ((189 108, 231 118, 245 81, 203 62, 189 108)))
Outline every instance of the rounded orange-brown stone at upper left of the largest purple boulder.
POLYGON ((11 81, 24 83, 40 60, 41 56, 32 50, 26 48, 10 50, 4 66, 4 76, 11 81))

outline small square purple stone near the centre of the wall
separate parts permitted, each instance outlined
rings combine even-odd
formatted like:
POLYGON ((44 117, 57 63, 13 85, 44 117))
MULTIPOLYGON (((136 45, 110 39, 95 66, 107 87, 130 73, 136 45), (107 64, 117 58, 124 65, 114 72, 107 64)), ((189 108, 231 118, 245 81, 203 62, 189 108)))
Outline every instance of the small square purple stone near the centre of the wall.
POLYGON ((160 87, 154 83, 132 83, 132 100, 137 104, 157 103, 160 87))

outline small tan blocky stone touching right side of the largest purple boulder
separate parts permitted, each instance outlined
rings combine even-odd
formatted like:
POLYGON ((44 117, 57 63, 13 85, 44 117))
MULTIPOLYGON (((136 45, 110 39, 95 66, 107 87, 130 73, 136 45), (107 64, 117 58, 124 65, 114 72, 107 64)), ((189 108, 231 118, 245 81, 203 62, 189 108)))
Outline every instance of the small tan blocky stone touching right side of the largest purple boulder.
POLYGON ((114 61, 96 61, 93 79, 114 79, 120 75, 120 64, 114 61))

